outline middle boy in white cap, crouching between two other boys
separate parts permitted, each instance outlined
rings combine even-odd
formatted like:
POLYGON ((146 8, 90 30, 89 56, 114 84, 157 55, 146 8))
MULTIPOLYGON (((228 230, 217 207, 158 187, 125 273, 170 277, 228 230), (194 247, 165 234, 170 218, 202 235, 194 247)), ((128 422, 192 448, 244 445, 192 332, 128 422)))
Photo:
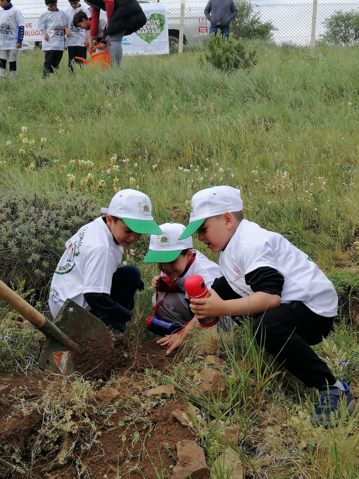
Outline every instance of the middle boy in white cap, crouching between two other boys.
MULTIPOLYGON (((158 318, 169 319, 185 325, 193 318, 189 309, 189 300, 185 292, 184 282, 192 274, 202 276, 204 283, 211 287, 213 281, 221 275, 218 264, 209 260, 200 251, 193 249, 191 236, 178 239, 185 230, 180 223, 165 223, 160 225, 162 234, 151 235, 145 263, 157 263, 161 274, 152 279, 151 286, 156 289, 153 298, 154 314, 158 318)), ((219 325, 229 329, 233 322, 219 325)), ((157 343, 166 345, 164 339, 157 343)))

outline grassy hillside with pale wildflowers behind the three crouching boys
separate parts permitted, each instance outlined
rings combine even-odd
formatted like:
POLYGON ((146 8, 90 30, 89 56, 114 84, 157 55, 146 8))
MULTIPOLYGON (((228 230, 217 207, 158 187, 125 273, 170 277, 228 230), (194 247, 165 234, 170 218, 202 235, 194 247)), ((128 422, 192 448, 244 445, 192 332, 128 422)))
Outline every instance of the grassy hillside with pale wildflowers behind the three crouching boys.
POLYGON ((135 185, 159 223, 185 222, 201 188, 238 185, 248 219, 326 270, 356 266, 358 48, 262 46, 253 70, 230 76, 200 56, 125 57, 120 70, 71 76, 65 54, 44 81, 43 54, 23 55, 19 80, 0 92, 0 183, 56 199, 69 182, 99 207, 135 185), (22 125, 34 147, 22 143, 22 125), (107 174, 114 154, 118 171, 107 174))

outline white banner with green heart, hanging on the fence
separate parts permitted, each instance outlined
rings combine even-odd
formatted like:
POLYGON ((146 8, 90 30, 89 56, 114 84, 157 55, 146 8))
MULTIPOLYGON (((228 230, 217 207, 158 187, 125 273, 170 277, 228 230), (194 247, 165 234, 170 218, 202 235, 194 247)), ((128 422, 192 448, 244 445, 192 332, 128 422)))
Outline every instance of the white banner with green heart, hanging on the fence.
POLYGON ((162 55, 168 51, 166 5, 141 3, 146 24, 137 32, 122 39, 123 55, 162 55))

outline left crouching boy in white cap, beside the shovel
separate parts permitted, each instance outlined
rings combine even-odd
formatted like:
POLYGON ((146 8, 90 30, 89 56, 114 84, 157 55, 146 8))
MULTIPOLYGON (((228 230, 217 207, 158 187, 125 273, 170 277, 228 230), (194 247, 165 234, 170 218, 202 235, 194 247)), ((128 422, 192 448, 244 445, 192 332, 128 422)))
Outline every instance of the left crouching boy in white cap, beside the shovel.
POLYGON ((161 233, 152 217, 149 197, 134 189, 118 191, 106 216, 83 226, 66 242, 49 295, 56 318, 67 298, 118 331, 131 320, 134 295, 144 284, 132 265, 119 268, 123 248, 142 234, 161 233))

